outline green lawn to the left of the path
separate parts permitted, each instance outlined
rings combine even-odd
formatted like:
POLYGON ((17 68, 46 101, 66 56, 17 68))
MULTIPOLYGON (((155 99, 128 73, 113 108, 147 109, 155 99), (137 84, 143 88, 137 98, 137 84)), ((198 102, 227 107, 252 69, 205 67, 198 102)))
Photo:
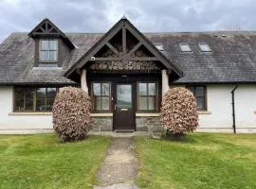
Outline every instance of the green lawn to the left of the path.
POLYGON ((0 188, 91 188, 109 143, 99 136, 61 144, 53 134, 0 135, 0 188))

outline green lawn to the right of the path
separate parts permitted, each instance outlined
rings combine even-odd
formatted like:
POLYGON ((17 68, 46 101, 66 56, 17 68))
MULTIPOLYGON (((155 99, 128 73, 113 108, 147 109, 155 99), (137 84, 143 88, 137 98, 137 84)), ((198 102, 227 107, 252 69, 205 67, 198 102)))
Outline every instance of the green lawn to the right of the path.
POLYGON ((256 188, 256 135, 195 133, 186 142, 137 137, 141 188, 256 188))

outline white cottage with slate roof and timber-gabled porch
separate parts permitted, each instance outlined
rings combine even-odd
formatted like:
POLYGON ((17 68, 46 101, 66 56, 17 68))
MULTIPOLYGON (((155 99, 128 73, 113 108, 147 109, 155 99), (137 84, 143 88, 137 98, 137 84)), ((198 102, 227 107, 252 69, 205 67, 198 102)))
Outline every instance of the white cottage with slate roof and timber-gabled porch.
POLYGON ((198 131, 256 131, 256 32, 142 34, 126 18, 107 33, 64 33, 43 20, 0 45, 0 129, 51 130, 60 87, 92 99, 97 131, 161 129, 169 87, 195 95, 198 131))

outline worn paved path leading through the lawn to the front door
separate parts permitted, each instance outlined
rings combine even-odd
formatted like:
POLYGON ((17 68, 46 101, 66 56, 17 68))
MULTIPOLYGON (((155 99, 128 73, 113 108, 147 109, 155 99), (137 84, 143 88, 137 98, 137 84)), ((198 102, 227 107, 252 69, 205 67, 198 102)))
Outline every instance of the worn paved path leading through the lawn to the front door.
POLYGON ((137 158, 134 137, 113 138, 107 156, 101 164, 95 189, 136 189, 137 158))

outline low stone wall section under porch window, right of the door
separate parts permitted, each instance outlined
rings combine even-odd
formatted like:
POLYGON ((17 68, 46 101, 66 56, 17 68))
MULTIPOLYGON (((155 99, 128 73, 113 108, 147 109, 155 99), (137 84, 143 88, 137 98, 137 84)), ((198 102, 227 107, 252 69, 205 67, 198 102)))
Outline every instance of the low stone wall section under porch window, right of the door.
POLYGON ((163 128, 160 124, 160 117, 136 117, 137 131, 159 132, 163 128))

